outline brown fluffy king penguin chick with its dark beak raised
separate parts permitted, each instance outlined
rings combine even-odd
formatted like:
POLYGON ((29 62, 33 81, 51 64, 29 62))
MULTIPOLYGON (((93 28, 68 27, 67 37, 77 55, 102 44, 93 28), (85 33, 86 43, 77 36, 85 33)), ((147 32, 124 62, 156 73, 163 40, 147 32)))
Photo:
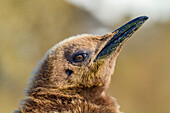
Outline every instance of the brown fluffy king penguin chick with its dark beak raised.
POLYGON ((56 44, 15 113, 119 113, 115 99, 104 91, 122 47, 147 19, 138 17, 103 36, 78 35, 56 44))

